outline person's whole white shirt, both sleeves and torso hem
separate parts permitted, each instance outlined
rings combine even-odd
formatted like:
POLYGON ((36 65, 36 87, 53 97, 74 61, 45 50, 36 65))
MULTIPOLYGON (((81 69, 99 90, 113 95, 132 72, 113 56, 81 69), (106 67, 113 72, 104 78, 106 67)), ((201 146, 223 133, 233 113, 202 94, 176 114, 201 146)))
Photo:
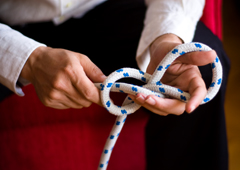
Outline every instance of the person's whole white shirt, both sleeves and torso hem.
MULTIPOLYGON (((50 21, 56 25, 71 17, 82 17, 105 0, 1 0, 0 19, 8 25, 50 21), (10 12, 11 11, 11 12, 10 12)), ((148 6, 136 60, 146 71, 150 61, 149 45, 166 33, 191 42, 202 15, 205 0, 145 0, 148 6)), ((0 83, 23 96, 16 82, 28 57, 44 46, 0 23, 0 83)))

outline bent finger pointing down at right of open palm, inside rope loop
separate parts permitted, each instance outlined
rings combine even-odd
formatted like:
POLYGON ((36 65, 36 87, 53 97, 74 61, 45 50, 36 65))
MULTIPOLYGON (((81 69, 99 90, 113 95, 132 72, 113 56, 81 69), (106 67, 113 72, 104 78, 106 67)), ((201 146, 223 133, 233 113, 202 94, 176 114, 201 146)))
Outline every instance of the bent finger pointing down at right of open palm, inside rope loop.
POLYGON ((207 95, 206 85, 202 78, 195 77, 189 83, 190 100, 186 104, 186 112, 193 112, 207 95))

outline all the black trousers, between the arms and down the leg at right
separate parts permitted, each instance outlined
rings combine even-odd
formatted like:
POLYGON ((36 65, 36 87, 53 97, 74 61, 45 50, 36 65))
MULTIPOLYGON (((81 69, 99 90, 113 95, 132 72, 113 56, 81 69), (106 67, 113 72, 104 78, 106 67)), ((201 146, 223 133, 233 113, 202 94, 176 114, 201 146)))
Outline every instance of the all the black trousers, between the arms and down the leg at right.
MULTIPOLYGON (((143 29, 143 0, 109 0, 81 19, 54 26, 51 22, 15 27, 26 36, 50 47, 87 55, 108 75, 122 67, 137 67, 136 50, 143 29)), ((150 113, 146 127, 148 170, 228 169, 224 96, 229 61, 221 41, 199 22, 194 41, 217 51, 223 65, 223 83, 218 95, 194 113, 159 116, 150 113)), ((201 67, 206 84, 211 68, 201 67)))

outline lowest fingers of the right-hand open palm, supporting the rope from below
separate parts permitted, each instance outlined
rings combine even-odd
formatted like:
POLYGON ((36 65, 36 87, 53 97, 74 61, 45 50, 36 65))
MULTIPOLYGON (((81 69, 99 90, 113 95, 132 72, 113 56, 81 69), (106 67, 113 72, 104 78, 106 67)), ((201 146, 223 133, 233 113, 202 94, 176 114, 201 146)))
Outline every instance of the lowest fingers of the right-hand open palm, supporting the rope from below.
MULTIPOLYGON (((132 97, 132 96, 130 96, 132 97)), ((181 115, 185 111, 185 103, 176 99, 160 98, 154 95, 138 94, 133 101, 159 115, 181 115)))

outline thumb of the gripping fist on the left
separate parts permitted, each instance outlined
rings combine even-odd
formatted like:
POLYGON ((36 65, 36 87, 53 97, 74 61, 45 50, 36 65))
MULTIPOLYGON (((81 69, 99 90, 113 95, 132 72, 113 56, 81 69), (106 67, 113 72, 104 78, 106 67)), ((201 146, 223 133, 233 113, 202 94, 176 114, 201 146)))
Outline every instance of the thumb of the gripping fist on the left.
POLYGON ((100 68, 98 68, 87 56, 82 56, 81 65, 88 76, 94 83, 101 83, 106 79, 100 68))

